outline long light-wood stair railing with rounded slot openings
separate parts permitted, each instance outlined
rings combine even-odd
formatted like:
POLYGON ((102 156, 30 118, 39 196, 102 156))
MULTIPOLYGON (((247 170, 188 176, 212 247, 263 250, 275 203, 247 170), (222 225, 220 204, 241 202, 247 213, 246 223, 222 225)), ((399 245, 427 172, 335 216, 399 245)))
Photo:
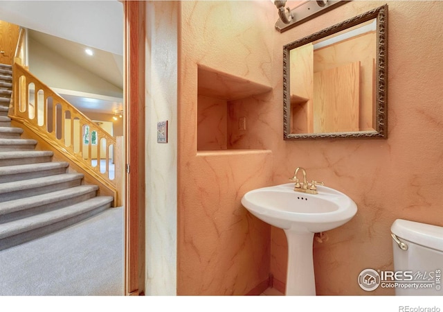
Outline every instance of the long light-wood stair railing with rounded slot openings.
POLYGON ((114 159, 116 139, 17 62, 12 73, 10 118, 26 125, 105 185, 115 203, 116 179, 109 170, 109 161, 114 159))

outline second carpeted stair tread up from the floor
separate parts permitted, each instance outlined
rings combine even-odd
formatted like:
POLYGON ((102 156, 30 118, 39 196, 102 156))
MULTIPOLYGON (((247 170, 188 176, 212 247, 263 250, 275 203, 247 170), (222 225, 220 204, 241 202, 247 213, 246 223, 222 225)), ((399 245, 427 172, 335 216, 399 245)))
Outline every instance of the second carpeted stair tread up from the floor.
POLYGON ((71 187, 69 189, 62 189, 60 191, 54 191, 51 193, 30 196, 28 198, 9 200, 8 202, 1 203, 0 216, 31 209, 37 206, 51 205, 54 202, 60 202, 75 196, 82 196, 84 194, 96 191, 98 191, 98 186, 96 185, 79 185, 78 187, 71 187))

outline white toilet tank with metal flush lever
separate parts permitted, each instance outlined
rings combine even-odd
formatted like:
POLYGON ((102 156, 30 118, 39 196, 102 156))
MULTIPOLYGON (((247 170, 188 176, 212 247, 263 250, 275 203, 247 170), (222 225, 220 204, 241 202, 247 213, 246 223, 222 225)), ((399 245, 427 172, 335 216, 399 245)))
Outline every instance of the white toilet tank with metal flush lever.
POLYGON ((443 227, 397 219, 390 229, 394 270, 406 272, 395 295, 443 295, 443 227))

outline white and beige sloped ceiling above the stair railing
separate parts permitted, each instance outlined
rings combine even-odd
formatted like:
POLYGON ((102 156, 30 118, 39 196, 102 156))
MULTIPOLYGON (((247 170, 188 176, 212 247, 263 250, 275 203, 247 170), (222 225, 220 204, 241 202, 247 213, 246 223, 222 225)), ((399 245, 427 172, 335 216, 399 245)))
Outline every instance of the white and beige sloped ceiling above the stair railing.
MULTIPOLYGON (((30 37, 123 89, 123 5, 108 1, 0 1, 0 19, 28 28, 30 37), (94 58, 84 58, 84 47, 94 58)), ((123 98, 62 94, 80 110, 112 113, 123 98)))

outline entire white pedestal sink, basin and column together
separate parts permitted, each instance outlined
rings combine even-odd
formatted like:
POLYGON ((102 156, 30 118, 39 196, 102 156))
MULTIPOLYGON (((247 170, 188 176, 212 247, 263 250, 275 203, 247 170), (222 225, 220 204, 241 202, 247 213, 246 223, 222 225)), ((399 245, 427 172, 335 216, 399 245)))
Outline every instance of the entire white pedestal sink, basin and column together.
POLYGON ((286 295, 316 295, 312 243, 314 234, 339 227, 357 211, 355 202, 329 187, 318 194, 299 193, 294 184, 248 191, 242 205, 254 216, 284 229, 288 241, 286 295))

